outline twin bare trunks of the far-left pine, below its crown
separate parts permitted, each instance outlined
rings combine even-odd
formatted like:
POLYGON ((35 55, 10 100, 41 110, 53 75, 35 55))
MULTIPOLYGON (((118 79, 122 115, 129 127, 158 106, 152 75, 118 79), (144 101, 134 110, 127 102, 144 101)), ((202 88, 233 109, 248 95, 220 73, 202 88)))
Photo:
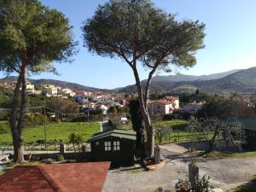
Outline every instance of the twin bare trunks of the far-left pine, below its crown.
POLYGON ((20 68, 20 74, 17 79, 17 84, 15 86, 15 92, 13 96, 11 114, 9 118, 9 125, 13 137, 13 146, 14 146, 14 161, 15 163, 24 162, 23 156, 23 137, 22 137, 22 126, 24 120, 24 113, 26 108, 26 62, 22 63, 20 68), (18 112, 19 106, 19 93, 20 85, 22 84, 21 89, 21 102, 20 102, 20 111, 18 112))

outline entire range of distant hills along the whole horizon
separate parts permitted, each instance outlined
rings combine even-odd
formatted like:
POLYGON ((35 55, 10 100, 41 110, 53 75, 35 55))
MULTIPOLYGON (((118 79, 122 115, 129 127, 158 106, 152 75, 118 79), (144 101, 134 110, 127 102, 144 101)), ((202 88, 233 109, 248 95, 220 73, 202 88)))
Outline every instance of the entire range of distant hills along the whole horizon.
MULTIPOLYGON (((12 81, 15 79, 16 77, 8 77, 1 79, 1 81, 12 81)), ((55 84, 56 86, 70 88, 72 90, 118 92, 128 94, 137 92, 135 84, 113 90, 107 90, 54 79, 28 79, 28 81, 38 86, 41 84, 55 84)), ((142 85, 144 86, 145 84, 146 80, 143 80, 142 85)), ((234 92, 254 94, 256 93, 256 67, 235 69, 224 73, 213 73, 201 76, 185 74, 155 76, 152 79, 150 86, 151 93, 194 93, 196 89, 209 94, 229 94, 234 92)))

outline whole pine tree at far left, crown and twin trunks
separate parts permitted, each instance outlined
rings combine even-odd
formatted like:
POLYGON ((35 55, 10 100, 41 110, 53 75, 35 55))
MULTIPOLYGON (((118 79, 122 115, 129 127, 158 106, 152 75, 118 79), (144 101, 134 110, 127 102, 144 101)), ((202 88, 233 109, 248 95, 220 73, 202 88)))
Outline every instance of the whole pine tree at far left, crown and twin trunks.
POLYGON ((9 117, 16 163, 23 161, 26 73, 55 72, 53 61, 67 61, 73 55, 71 29, 63 14, 37 0, 0 0, 0 70, 18 73, 9 117))

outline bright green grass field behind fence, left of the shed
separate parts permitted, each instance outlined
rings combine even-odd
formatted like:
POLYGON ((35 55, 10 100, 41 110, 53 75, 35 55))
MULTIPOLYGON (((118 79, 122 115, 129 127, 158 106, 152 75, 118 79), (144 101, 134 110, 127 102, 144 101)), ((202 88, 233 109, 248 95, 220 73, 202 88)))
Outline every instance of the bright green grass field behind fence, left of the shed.
MULTIPOLYGON (((0 143, 12 143, 9 125, 4 122, 0 124, 0 143)), ((75 132, 87 141, 94 133, 100 131, 97 123, 58 123, 46 125, 47 140, 62 140, 67 143, 68 136, 75 132)), ((44 125, 25 128, 23 131, 25 143, 36 143, 37 140, 44 140, 44 125)))

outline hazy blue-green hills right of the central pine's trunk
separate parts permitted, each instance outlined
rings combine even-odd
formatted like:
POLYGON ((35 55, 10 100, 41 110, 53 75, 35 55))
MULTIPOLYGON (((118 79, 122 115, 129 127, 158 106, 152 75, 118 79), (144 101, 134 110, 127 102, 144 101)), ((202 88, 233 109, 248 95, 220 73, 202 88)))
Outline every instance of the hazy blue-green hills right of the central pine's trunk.
MULTIPOLYGON (((256 93, 256 67, 243 69, 239 71, 230 71, 226 76, 220 79, 214 79, 216 77, 221 77, 224 73, 212 74, 210 75, 210 80, 187 80, 191 79, 191 76, 184 76, 184 80, 181 81, 171 81, 170 79, 153 79, 150 91, 151 92, 173 92, 173 93, 193 93, 197 88, 203 92, 207 93, 256 93), (213 79, 212 79, 213 77, 213 79)), ((170 76, 168 76, 170 77, 170 76)), ((178 78, 181 76, 178 75, 178 78)), ((193 76, 192 76, 193 77, 193 76)), ((194 76, 195 77, 195 76, 194 76)), ((197 76, 201 77, 201 76, 197 76)), ((207 77, 204 77, 207 79, 207 77)), ((145 81, 142 82, 143 86, 145 81)), ((124 89, 119 90, 119 92, 136 92, 135 85, 126 86, 124 89)))

